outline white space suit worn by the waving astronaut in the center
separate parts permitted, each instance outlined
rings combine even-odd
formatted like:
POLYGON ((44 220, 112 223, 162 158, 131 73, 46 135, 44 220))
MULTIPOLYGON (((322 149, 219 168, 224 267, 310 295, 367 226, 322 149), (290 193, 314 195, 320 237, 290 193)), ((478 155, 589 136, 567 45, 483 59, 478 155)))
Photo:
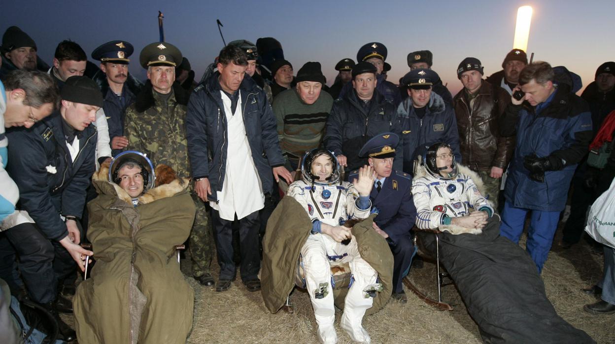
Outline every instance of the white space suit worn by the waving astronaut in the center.
MULTIPOLYGON (((333 157, 333 154, 330 156, 333 157)), ((337 161, 333 160, 333 163, 337 164, 337 161)), ((310 168, 309 164, 307 168, 310 168)), ((339 179, 339 175, 337 178, 339 179)), ((295 198, 303 206, 312 223, 320 221, 327 225, 340 226, 350 218, 362 219, 370 215, 371 202, 365 209, 360 209, 359 193, 351 183, 340 184, 336 180, 313 184, 311 181, 308 182, 304 180, 293 182, 288 186, 287 195, 295 198)), ((354 282, 346 295, 340 326, 352 340, 370 342, 370 337, 361 322, 365 311, 373 302, 373 297, 367 291, 379 288, 376 284, 378 273, 359 255, 354 236, 349 244, 344 245, 327 234, 312 231, 301 248, 301 256, 308 294, 319 327, 320 342, 337 341, 333 327, 335 306, 331 290, 331 266, 344 263, 349 264, 354 282)))

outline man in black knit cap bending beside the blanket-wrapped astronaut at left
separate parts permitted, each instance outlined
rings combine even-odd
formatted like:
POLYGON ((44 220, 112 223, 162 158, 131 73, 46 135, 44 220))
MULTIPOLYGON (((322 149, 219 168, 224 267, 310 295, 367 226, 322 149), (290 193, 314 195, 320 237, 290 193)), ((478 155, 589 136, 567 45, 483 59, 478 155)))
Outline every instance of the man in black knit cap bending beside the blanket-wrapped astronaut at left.
POLYGON ((85 76, 66 79, 60 93, 62 106, 36 121, 30 130, 9 130, 10 164, 7 172, 20 191, 20 210, 31 222, 6 231, 17 249, 20 271, 29 295, 54 314, 64 340, 75 338, 57 311, 72 305, 57 295, 58 281, 74 273, 74 262, 84 270, 92 252, 79 246, 79 218, 86 189, 95 169, 96 111, 103 97, 85 76))

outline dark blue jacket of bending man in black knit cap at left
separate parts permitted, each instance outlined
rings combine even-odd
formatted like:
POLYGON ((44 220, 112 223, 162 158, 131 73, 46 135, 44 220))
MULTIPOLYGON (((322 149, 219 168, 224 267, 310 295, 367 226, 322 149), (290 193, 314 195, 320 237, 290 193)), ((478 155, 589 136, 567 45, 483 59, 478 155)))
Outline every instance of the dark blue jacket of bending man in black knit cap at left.
POLYGON ((76 133, 74 161, 66 146, 62 116, 55 112, 30 129, 8 132, 7 171, 19 188, 20 210, 27 210, 48 239, 62 240, 68 231, 60 215, 81 218, 85 194, 95 170, 96 127, 76 133))

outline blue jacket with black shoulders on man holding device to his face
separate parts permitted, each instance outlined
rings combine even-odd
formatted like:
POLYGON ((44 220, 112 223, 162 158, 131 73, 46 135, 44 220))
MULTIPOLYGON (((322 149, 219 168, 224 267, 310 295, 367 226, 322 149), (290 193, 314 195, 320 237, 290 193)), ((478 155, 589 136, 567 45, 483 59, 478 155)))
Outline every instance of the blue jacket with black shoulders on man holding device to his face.
POLYGON ((504 189, 506 201, 514 207, 552 212, 566 205, 574 170, 587 154, 592 138, 589 106, 569 90, 569 86, 560 84, 538 113, 526 102, 510 103, 502 116, 501 135, 517 135, 504 189), (525 157, 531 154, 554 156, 565 164, 560 170, 545 172, 544 183, 536 182, 523 167, 525 157))

